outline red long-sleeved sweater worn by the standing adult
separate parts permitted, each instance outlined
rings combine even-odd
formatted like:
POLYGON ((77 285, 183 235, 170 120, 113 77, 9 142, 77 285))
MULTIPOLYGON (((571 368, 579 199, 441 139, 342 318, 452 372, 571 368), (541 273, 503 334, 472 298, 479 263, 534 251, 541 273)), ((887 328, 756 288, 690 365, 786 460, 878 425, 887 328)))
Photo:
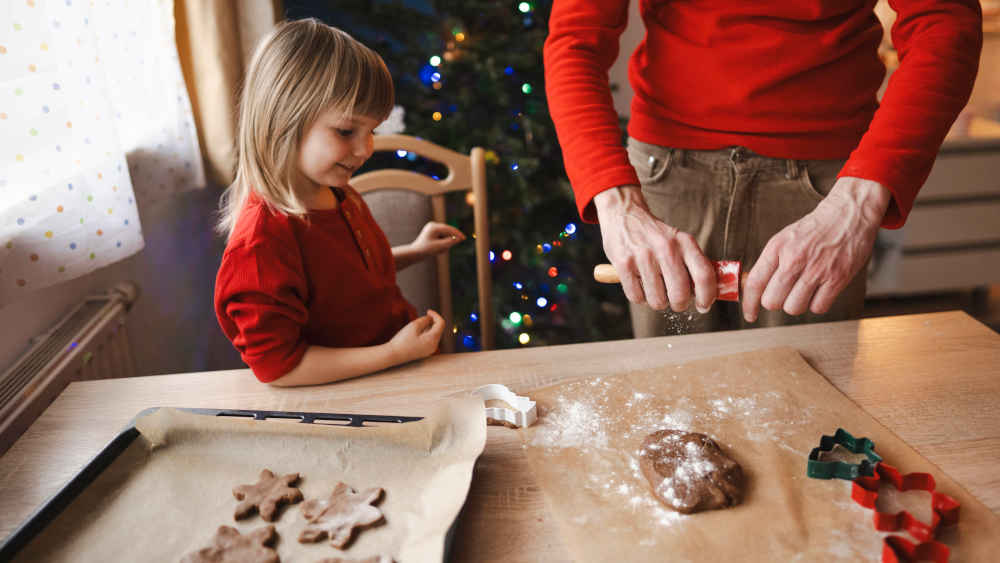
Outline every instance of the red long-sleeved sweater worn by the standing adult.
MULTIPOLYGON (((840 175, 886 186, 883 226, 902 226, 972 91, 982 47, 976 0, 890 0, 900 66, 881 107, 875 0, 639 1, 646 37, 629 64, 630 136, 847 158, 840 175)), ((549 110, 589 222, 594 195, 639 184, 607 79, 627 12, 628 0, 555 0, 545 43, 549 110)))

